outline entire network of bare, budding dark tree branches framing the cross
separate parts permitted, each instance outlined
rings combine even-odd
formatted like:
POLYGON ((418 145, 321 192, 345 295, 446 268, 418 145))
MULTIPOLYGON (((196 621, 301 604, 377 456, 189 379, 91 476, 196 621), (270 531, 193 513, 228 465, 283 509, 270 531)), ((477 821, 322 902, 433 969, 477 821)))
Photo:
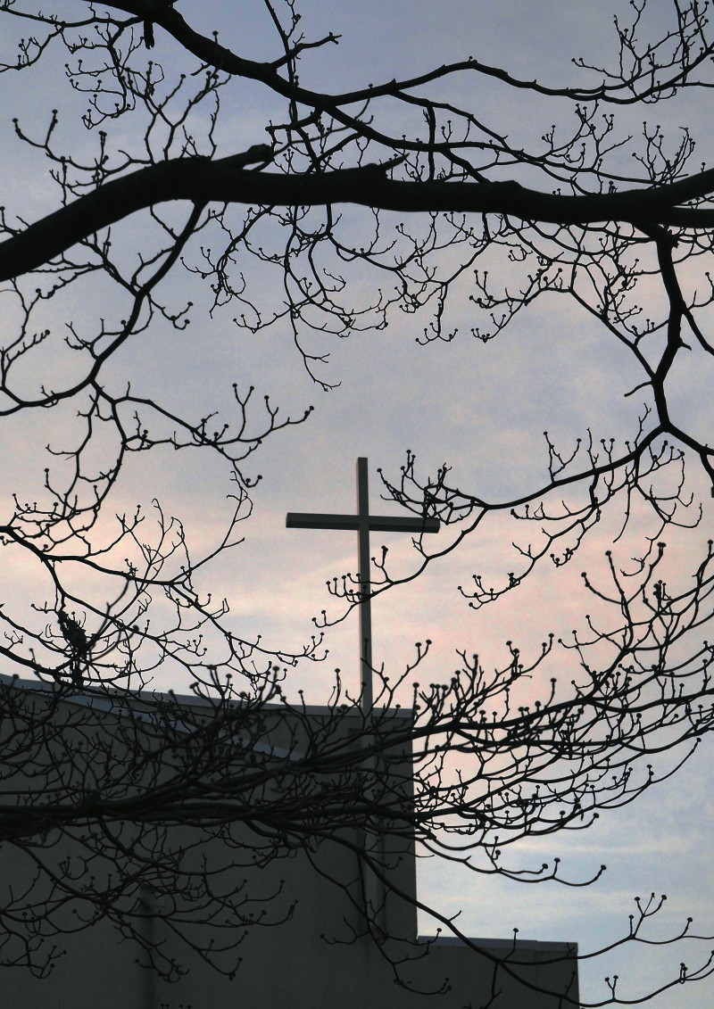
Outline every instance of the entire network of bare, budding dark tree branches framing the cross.
MULTIPOLYGON (((221 888, 203 847, 219 839, 246 868, 301 851, 319 874, 315 852, 328 844, 360 866, 335 881, 356 913, 351 940, 372 934, 398 972, 409 955, 364 913, 358 879, 372 874, 410 899, 379 838, 415 837, 478 873, 574 884, 556 864, 514 869, 502 852, 631 801, 711 728, 711 544, 687 587, 668 588, 660 572, 668 530, 702 518, 697 476, 714 486, 711 439, 671 404, 693 348, 714 353, 714 170, 695 164, 688 127, 673 138, 647 118, 635 136, 620 118, 711 88, 709 4, 655 16, 637 0, 615 21, 613 51, 598 65, 577 59, 566 86, 470 58, 343 92, 303 84, 340 39, 329 27, 303 34, 293 0, 266 0, 273 51, 263 60, 239 51, 247 34, 219 41, 213 11, 199 23, 179 6, 0 4, 0 72, 39 82, 14 139, 42 182, 0 210, 0 418, 46 418, 49 431, 26 467, 30 489, 0 517, 3 559, 36 588, 29 602, 0 600, 4 669, 35 684, 0 687, 0 837, 33 867, 31 886, 3 898, 0 956, 43 971, 69 903, 78 928, 110 918, 166 977, 181 965, 146 939, 150 916, 231 973, 229 945, 204 948, 192 922, 220 932, 229 918, 247 934, 284 920, 291 897, 279 884, 221 888), (473 96, 486 87, 528 103, 521 132, 482 112, 473 96), (260 97, 245 122, 265 131, 250 144, 246 95, 260 97), (542 115, 536 136, 526 125, 542 115), (596 610, 585 631, 529 660, 509 645, 493 672, 464 652, 448 682, 414 688, 413 717, 396 717, 428 651, 418 646, 403 676, 382 677, 372 720, 337 682, 315 721, 280 683, 285 665, 321 654, 320 639, 292 652, 258 632, 246 640, 203 588, 251 511, 242 464, 309 411, 286 416, 242 376, 227 395, 212 389, 207 408, 173 402, 147 380, 142 350, 229 311, 243 336, 286 327, 326 388, 330 338, 383 329, 401 312, 419 343, 449 341, 468 301, 472 336, 486 343, 544 299, 577 307, 629 355, 636 422, 619 440, 588 428, 564 445, 546 432, 541 475, 509 495, 467 485, 447 462, 424 474, 407 452, 401 473, 383 475, 387 496, 452 535, 417 541, 406 575, 384 551, 372 590, 476 542, 494 516, 512 518, 516 560, 495 577, 473 573, 462 594, 474 608, 543 561, 571 562, 605 518, 618 522, 615 549, 626 534, 634 546, 625 561, 608 554, 603 580, 586 579, 596 610), (121 496, 132 462, 169 448, 227 469, 231 508, 209 545, 195 548, 159 501, 146 511, 121 496), (531 678, 547 680, 554 651, 570 671, 534 699, 531 678), (160 669, 188 674, 204 703, 142 691, 160 669), (671 751, 672 763, 647 764, 671 751), (58 862, 61 835, 78 846, 71 862, 58 862)), ((330 582, 342 608, 322 623, 358 605, 365 580, 330 582)), ((655 910, 639 905, 622 941, 651 941, 655 910)), ((709 970, 683 968, 673 984, 709 970)))

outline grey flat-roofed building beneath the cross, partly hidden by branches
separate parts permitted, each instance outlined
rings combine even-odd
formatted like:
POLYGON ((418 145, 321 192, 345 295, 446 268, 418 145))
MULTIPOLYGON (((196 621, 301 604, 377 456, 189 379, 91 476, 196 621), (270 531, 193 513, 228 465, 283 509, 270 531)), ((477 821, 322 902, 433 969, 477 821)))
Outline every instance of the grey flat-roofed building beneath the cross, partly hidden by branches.
MULTIPOLYGON (((146 714, 150 709, 148 701, 145 711, 134 709, 130 713, 118 694, 112 697, 87 691, 58 701, 57 691, 52 687, 22 681, 10 683, 9 678, 3 678, 0 699, 4 698, 5 706, 7 698, 21 698, 22 704, 29 704, 36 712, 55 698, 53 717, 60 721, 67 718, 71 724, 65 736, 71 734, 72 747, 79 747, 80 751, 84 748, 92 760, 101 752, 102 740, 110 741, 104 753, 111 753, 113 760, 121 762, 127 739, 137 738, 137 732, 151 739, 154 730, 146 714), (127 726, 129 736, 126 735, 127 726), (118 746, 115 740, 119 741, 118 746)), ((180 700, 199 715, 202 704, 204 710, 210 710, 207 701, 196 697, 180 700)), ((290 759, 291 754, 297 753, 297 734, 286 728, 283 708, 273 707, 269 713, 274 724, 268 749, 273 755, 280 753, 284 759, 290 759)), ((320 725, 328 716, 328 709, 309 708, 308 715, 311 724, 320 725)), ((395 719, 403 717, 409 717, 408 712, 394 712, 395 719)), ((7 718, 0 722, 2 725, 7 723, 7 718)), ((9 736, 3 733, 0 739, 3 758, 12 757, 13 747, 19 754, 21 733, 9 736)), ((266 748, 265 743, 261 746, 266 748)), ((397 758, 395 773, 399 771, 399 760, 402 769, 407 766, 403 758, 397 758)), ((7 763, 3 760, 5 767, 13 763, 12 759, 7 763)), ((28 792, 37 794, 38 807, 50 801, 43 780, 41 775, 38 779, 28 779, 28 792)), ((17 773, 3 773, 0 803, 5 812, 17 801, 17 773)), ((83 829, 86 834, 89 828, 83 829)), ((171 829, 180 831, 187 827, 171 829)), ((359 834, 359 830, 351 832, 356 842, 359 834)), ((65 833, 44 857, 59 872, 68 874, 68 878, 76 877, 76 867, 81 865, 76 852, 81 840, 81 831, 75 831, 74 837, 65 833)), ((356 909, 363 898, 355 891, 356 858, 348 848, 325 839, 312 853, 298 849, 287 859, 246 870, 233 868, 232 850, 221 847, 219 839, 213 839, 205 848, 209 865, 227 864, 229 874, 233 874, 233 883, 242 883, 244 878, 253 892, 270 895, 280 891, 284 906, 295 902, 292 915, 281 924, 259 925, 246 930, 238 921, 222 922, 217 931, 218 941, 226 942, 227 939, 231 945, 231 936, 234 936, 232 945, 237 945, 242 957, 232 979, 216 973, 197 952, 187 949, 176 938, 171 918, 164 921, 161 916, 147 913, 143 923, 146 940, 159 943, 163 952, 175 954, 188 968, 188 973, 178 982, 165 982, 137 963, 141 955, 138 942, 123 938, 110 920, 79 927, 77 907, 68 900, 56 907, 53 914, 54 924, 59 924, 66 934, 46 938, 50 946, 66 951, 56 960, 48 977, 41 980, 33 978, 25 968, 6 967, 1 976, 2 1009, 37 1009, 40 1006, 53 1009, 272 1009, 281 1005, 296 1009, 302 1006, 306 1009, 423 1009, 427 1006, 434 1006, 434 1009, 464 1006, 473 1009, 482 1006, 488 1009, 560 1009, 573 1003, 577 1005, 575 944, 522 939, 514 944, 513 939, 479 938, 474 940, 482 950, 479 954, 452 937, 418 936, 413 842, 405 840, 402 833, 401 837, 388 834, 383 844, 381 861, 390 883, 403 894, 401 899, 390 895, 383 903, 382 898, 374 896, 379 891, 379 884, 372 880, 367 886, 368 890, 372 887, 372 899, 381 904, 379 923, 389 935, 383 943, 365 935, 355 937, 364 926, 364 916, 356 909), (401 963, 395 967, 394 962, 401 963), (525 985, 519 984, 499 966, 499 962, 507 965, 508 971, 522 976, 525 985), (427 1000, 424 992, 434 994, 427 1000), (552 994, 544 994, 546 992, 552 994), (566 993, 573 1002, 560 1001, 558 996, 566 993)), ((250 845, 247 836, 245 845, 247 850, 250 845)), ((8 839, 0 843, 0 892, 5 908, 11 889, 14 895, 26 891, 28 905, 33 899, 34 891, 27 890, 27 881, 32 879, 33 873, 30 856, 31 852, 23 851, 21 844, 15 845, 8 839)), ((151 905, 152 900, 147 898, 147 912, 156 912, 161 906, 151 905)), ((267 907, 271 906, 269 902, 267 907)), ((200 939, 197 944, 201 945, 207 932, 199 928, 195 934, 200 939)), ((37 940, 40 937, 38 935, 37 940)), ((2 938, 0 934, 0 943, 2 938)), ((16 948, 16 942, 0 945, 0 957, 7 962, 16 948)))

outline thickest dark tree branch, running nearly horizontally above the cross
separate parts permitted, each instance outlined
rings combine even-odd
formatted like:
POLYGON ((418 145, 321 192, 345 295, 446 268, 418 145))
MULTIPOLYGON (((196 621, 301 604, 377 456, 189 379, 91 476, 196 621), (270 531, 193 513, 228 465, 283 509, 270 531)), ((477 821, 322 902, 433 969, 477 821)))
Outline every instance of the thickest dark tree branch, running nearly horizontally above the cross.
POLYGON ((644 222, 681 228, 714 227, 714 210, 680 206, 714 191, 711 169, 656 189, 562 196, 539 193, 514 182, 388 179, 387 171, 393 162, 297 176, 243 167, 269 157, 269 148, 259 144, 243 154, 217 160, 176 158, 105 183, 0 244, 0 281, 36 269, 102 228, 172 200, 285 207, 350 203, 401 213, 500 214, 562 225, 619 221, 638 227, 644 222))

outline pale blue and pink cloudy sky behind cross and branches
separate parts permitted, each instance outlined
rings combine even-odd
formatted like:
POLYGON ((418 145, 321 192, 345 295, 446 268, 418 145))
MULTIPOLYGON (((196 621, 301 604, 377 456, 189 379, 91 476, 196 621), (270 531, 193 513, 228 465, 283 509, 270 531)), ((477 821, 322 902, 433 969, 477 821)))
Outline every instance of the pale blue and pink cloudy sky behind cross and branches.
MULTIPOLYGON (((347 0, 327 6, 309 0, 302 8, 306 33, 333 30, 341 34, 341 40, 339 46, 317 50, 305 61, 302 81, 325 90, 345 90, 473 52, 514 73, 537 74, 547 77, 548 83, 563 84, 576 74, 567 57, 587 58, 607 47, 611 38, 608 13, 623 8, 613 3, 606 11, 604 5, 580 0, 568 5, 554 0, 446 0, 442 4, 365 0, 359 6, 347 0)), ((653 9, 664 17, 669 4, 657 0, 653 9)), ((215 24, 226 44, 243 46, 245 55, 261 59, 274 51, 270 27, 257 0, 241 4, 239 31, 234 17, 226 15, 220 4, 187 3, 182 11, 189 21, 195 17, 202 24, 215 24)), ((174 59, 170 40, 158 32, 157 42, 155 59, 174 59)), ((56 101, 47 82, 50 73, 61 73, 59 67, 56 64, 47 71, 46 78, 36 75, 34 90, 27 88, 20 75, 7 84, 4 130, 11 129, 12 115, 19 115, 28 128, 46 121, 52 107, 47 96, 56 101)), ((226 154, 263 142, 273 111, 258 89, 246 87, 241 96, 240 101, 226 99, 224 106, 220 139, 226 154)), ((517 103, 506 100, 498 88, 484 88, 473 101, 480 115, 505 122, 524 136, 545 121, 534 117, 526 98, 517 103)), ((704 102, 702 95, 688 97, 677 109, 664 110, 658 121, 673 130, 691 123, 696 133, 705 122, 704 102)), ((79 105, 68 99, 62 108, 61 128, 72 137, 79 105)), ((54 190, 36 158, 18 145, 10 142, 2 156, 6 166, 3 202, 21 207, 33 219, 52 205, 54 190)), ((706 151, 702 156, 706 157, 706 151)), ((345 217, 349 224, 348 214, 345 217)), ((143 234, 140 225, 131 227, 138 230, 127 226, 123 240, 128 242, 143 234)), ((169 282, 168 297, 180 299, 184 283, 181 278, 169 282)), ((359 283, 369 290, 374 278, 366 275, 359 283)), ((254 384, 257 395, 270 395, 282 411, 296 416, 314 406, 305 424, 268 439, 246 464, 246 472, 260 473, 263 479, 253 494, 252 516, 243 525, 244 542, 202 576, 202 587, 227 598, 236 632, 246 637, 260 632, 269 645, 299 649, 314 633, 311 620, 315 614, 323 608, 330 614, 336 612, 325 582, 355 570, 353 534, 287 530, 285 515, 289 511, 352 511, 358 456, 370 460, 373 512, 396 515, 394 504, 379 501, 377 468, 397 474, 407 449, 416 454, 422 471, 433 472, 446 462, 453 467, 454 481, 475 492, 515 494, 542 477, 547 458, 543 431, 574 439, 590 427, 597 437, 623 438, 636 423, 640 404, 636 398, 623 399, 636 381, 631 360, 581 310, 559 299, 542 299, 488 344, 470 335, 474 309, 468 291, 453 307, 460 334, 450 343, 420 346, 417 337, 424 322, 395 313, 386 329, 329 344, 329 364, 320 375, 335 387, 324 391, 306 373, 284 328, 250 338, 240 335, 231 324, 235 311, 228 306, 210 317, 206 292, 196 290, 190 329, 177 336, 169 327, 157 326, 117 361, 116 376, 121 379, 130 373, 144 395, 161 390, 168 402, 190 403, 197 413, 216 402, 225 403, 233 381, 241 387, 254 384)), ((270 300, 271 292, 265 296, 270 300)), ((68 308, 89 326, 105 311, 103 297, 101 289, 93 293, 87 286, 81 300, 68 303, 68 308)), ((11 324, 12 313, 6 309, 0 325, 8 330, 11 324)), ((59 357, 57 367, 65 366, 59 357)), ((713 419, 707 367, 693 360, 673 381, 680 416, 705 427, 713 419)), ((72 421, 67 417, 63 423, 72 421)), ((57 429, 52 433, 57 434, 57 429)), ((12 422, 5 439, 4 492, 24 481, 31 487, 34 474, 26 459, 28 449, 36 452, 47 440, 44 419, 12 422)), ((696 480, 695 487, 701 490, 696 480)), ((150 506, 150 499, 159 495, 167 513, 185 522, 189 540, 198 550, 221 535, 230 491, 225 471, 214 462, 167 450, 132 459, 121 493, 126 507, 137 499, 150 506)), ((711 513, 702 529, 674 538, 675 575, 679 568, 686 577, 688 561, 701 550, 710 523, 711 513)), ((458 665, 457 650, 478 651, 485 663, 495 666, 507 654, 507 640, 527 651, 537 649, 550 631, 567 635, 582 626, 587 602, 579 572, 602 572, 603 551, 612 529, 605 526, 596 531, 575 567, 543 568, 518 593, 474 612, 456 586, 468 585, 475 570, 508 570, 504 565, 511 557, 514 535, 513 523, 489 523, 478 539, 433 564, 418 580, 376 600, 376 660, 396 673, 413 657, 414 643, 429 638, 434 643, 432 655, 419 675, 439 679, 458 665)), ((405 570, 411 563, 408 539, 395 534, 389 542, 390 556, 405 570)), ((373 549, 381 542, 376 536, 373 549)), ((37 590, 33 571, 15 568, 0 574, 4 592, 10 590, 10 576, 15 593, 26 592, 29 598, 37 590)), ((352 613, 326 634, 324 662, 301 665, 291 672, 289 685, 304 689, 309 701, 324 702, 333 670, 339 667, 355 689, 356 639, 352 613)), ((554 661, 567 673, 567 658, 554 661)), ((157 680, 157 686, 168 685, 175 684, 157 680)), ((626 931, 635 896, 667 893, 667 903, 652 925, 653 934, 677 931, 691 915, 702 934, 714 935, 710 854, 714 803, 708 787, 711 745, 701 751, 677 776, 627 809, 603 815, 587 831, 524 843, 512 855, 513 864, 521 865, 539 865, 557 856, 563 875, 573 881, 590 878, 606 863, 607 872, 593 886, 506 885, 471 878, 464 869, 430 860, 419 869, 423 899, 449 913, 461 909, 460 927, 475 936, 501 937, 517 926, 521 937, 575 940, 581 951, 587 951, 626 931)), ((426 921, 423 929, 430 930, 426 921)), ((679 946, 655 947, 647 956, 627 947, 607 962, 583 966, 583 995, 589 1000, 604 997, 602 978, 617 973, 633 997, 653 979, 677 973, 682 960, 694 964, 706 959, 712 944, 714 940, 693 943, 694 951, 687 947, 684 952, 679 946)), ((711 999, 712 992, 714 980, 705 981, 678 987, 653 1004, 657 1009, 693 1009, 711 999)))

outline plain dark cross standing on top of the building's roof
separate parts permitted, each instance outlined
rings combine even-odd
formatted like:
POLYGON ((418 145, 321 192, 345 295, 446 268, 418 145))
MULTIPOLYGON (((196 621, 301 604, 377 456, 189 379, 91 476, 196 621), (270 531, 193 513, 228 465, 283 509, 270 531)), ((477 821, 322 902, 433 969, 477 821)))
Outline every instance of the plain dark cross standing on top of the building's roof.
POLYGON ((438 533, 438 519, 395 519, 392 516, 370 515, 370 492, 367 459, 358 459, 358 514, 329 515, 311 512, 289 512, 287 529, 354 529, 360 554, 360 640, 362 646, 362 706, 372 710, 372 593, 370 592, 370 531, 379 533, 438 533))

